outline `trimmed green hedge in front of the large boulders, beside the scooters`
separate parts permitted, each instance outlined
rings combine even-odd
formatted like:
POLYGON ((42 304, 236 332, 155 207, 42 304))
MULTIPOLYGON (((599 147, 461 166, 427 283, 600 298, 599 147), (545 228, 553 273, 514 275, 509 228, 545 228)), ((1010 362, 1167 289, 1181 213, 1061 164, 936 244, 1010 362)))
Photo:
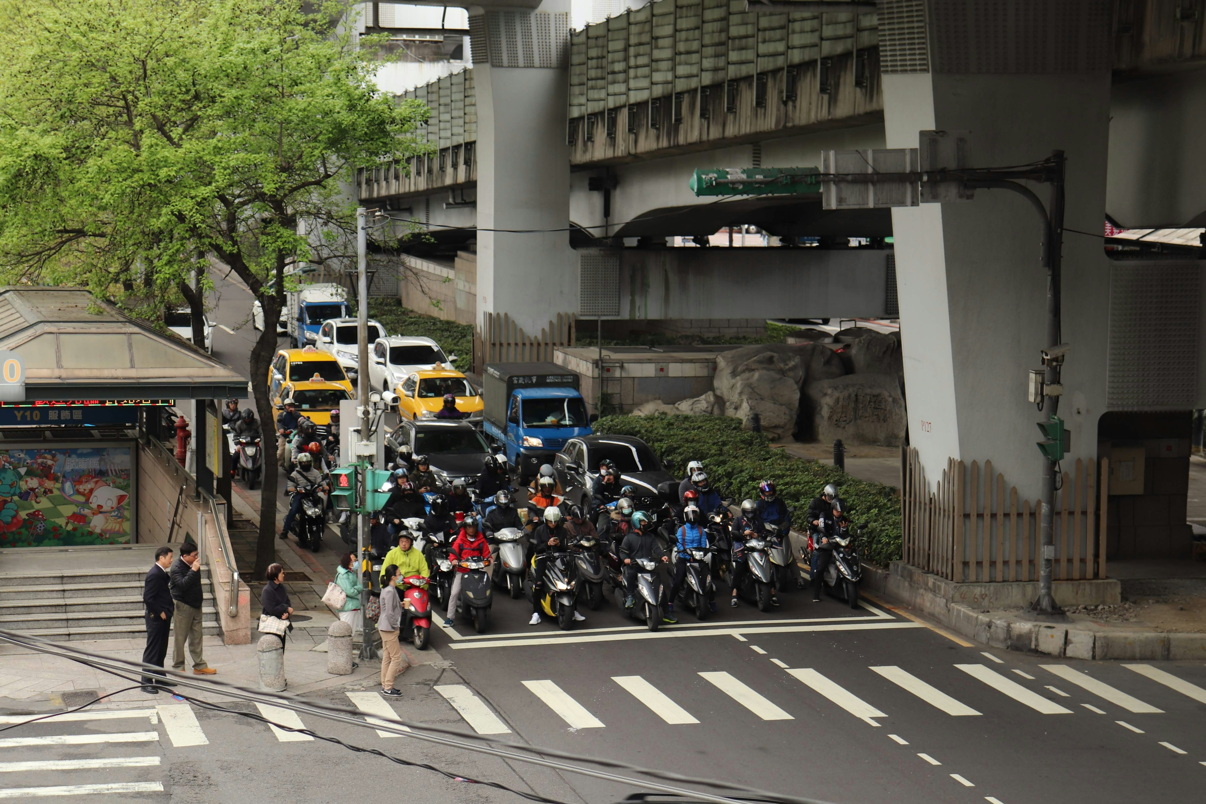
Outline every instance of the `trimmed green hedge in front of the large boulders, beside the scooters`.
POLYGON ((702 460, 718 488, 736 499, 756 498, 762 480, 774 481, 779 495, 796 509, 794 524, 803 529, 808 504, 826 483, 838 487, 850 520, 866 523, 862 558, 886 567, 901 557, 901 503, 896 489, 857 480, 841 469, 801 460, 771 447, 761 433, 742 429, 727 416, 607 416, 596 433, 634 435, 652 447, 681 477, 689 460, 702 460))

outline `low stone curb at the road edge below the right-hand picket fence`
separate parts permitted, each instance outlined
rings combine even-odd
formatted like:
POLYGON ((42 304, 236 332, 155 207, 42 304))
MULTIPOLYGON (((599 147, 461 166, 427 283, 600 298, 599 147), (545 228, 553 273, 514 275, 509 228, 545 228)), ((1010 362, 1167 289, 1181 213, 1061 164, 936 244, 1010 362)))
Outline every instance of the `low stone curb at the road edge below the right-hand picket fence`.
POLYGON ((1110 633, 1031 622, 1005 612, 983 614, 915 585, 891 582, 888 570, 862 565, 863 585, 913 608, 950 630, 991 647, 1070 659, 1206 661, 1206 634, 1110 633))

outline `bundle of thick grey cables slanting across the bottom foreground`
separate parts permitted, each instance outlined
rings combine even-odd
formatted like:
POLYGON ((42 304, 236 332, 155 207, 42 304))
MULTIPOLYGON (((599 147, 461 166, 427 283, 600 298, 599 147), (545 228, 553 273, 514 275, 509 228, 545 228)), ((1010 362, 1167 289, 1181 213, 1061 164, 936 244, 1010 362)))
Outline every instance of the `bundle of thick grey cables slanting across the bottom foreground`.
POLYGON ((159 675, 160 677, 171 674, 172 676, 177 676, 172 682, 176 686, 189 687, 199 691, 217 692, 219 694, 224 694, 230 698, 248 700, 252 703, 258 703, 267 698, 271 699, 273 702, 277 703, 285 709, 292 709, 293 711, 297 712, 310 714, 318 717, 324 717, 327 720, 333 720, 336 722, 350 723, 362 728, 376 728, 380 730, 390 730, 400 736, 410 736, 427 743, 435 743, 449 747, 466 749, 469 751, 475 751, 488 756, 496 756, 503 759, 527 762, 531 764, 538 764, 556 770, 562 770, 585 776, 592 776, 596 779, 603 779, 607 781, 613 781, 633 787, 648 787, 651 790, 656 790, 658 792, 672 793, 677 796, 697 797, 699 800, 714 802, 715 804, 733 804, 734 799, 689 788, 673 787, 661 782, 649 782, 626 776, 620 776, 607 771, 592 770, 590 768, 584 768, 581 765, 569 764, 567 762, 558 762, 557 759, 569 759, 579 762, 585 761, 592 764, 601 765, 603 768, 628 770, 631 773, 638 773, 649 776, 651 779, 658 779, 662 781, 689 784, 689 785, 702 785, 707 787, 713 787, 715 790, 734 791, 737 793, 743 793, 745 796, 754 796, 761 798, 762 800, 775 802, 779 804, 824 804, 818 799, 785 796, 781 793, 773 793, 769 791, 751 788, 744 785, 734 785, 731 782, 715 779, 696 779, 667 770, 657 770, 652 768, 632 765, 614 759, 605 759, 601 757, 584 757, 581 755, 558 751, 556 749, 544 749, 531 745, 517 745, 514 743, 496 740, 487 735, 468 734, 466 732, 459 732, 457 729, 431 726, 427 723, 414 723, 410 721, 403 721, 397 717, 387 718, 381 716, 374 716, 374 722, 369 724, 363 720, 363 712, 346 706, 336 706, 322 702, 304 700, 295 696, 291 696, 288 693, 263 692, 258 689, 251 689, 250 687, 241 687, 238 685, 218 680, 207 680, 205 682, 198 682, 193 681, 185 674, 177 673, 175 670, 165 670, 164 668, 145 664, 142 662, 131 662, 117 657, 109 657, 101 653, 93 653, 90 651, 86 651, 80 647, 70 647, 65 645, 46 642, 36 638, 23 636, 19 632, 0 630, 0 640, 29 647, 31 650, 47 653, 51 656, 58 656, 62 658, 68 658, 75 662, 80 662, 82 664, 87 664, 89 667, 93 667, 95 669, 110 673, 111 675, 116 675, 123 679, 129 679, 128 676, 129 673, 139 673, 144 675, 153 673, 154 675, 159 675), (88 658, 87 659, 78 658, 81 656, 88 658), (431 733, 425 733, 425 732, 431 732, 431 733), (449 735, 449 736, 438 736, 438 735, 449 735), (450 739, 450 738, 456 738, 456 739, 450 739), (464 743, 464 740, 467 739, 473 740, 475 743, 480 743, 481 745, 464 743), (516 753, 516 751, 525 751, 535 756, 525 756, 521 753, 516 753), (545 757, 551 757, 551 758, 545 758, 545 757))

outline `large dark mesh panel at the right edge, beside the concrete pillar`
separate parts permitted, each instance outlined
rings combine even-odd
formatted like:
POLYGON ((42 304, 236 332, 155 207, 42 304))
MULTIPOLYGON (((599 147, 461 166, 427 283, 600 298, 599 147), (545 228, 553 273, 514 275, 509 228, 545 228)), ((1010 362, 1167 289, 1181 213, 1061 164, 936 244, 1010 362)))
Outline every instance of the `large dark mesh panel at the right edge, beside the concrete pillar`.
POLYGON ((1196 262, 1111 266, 1111 410, 1193 409, 1201 272, 1196 262))

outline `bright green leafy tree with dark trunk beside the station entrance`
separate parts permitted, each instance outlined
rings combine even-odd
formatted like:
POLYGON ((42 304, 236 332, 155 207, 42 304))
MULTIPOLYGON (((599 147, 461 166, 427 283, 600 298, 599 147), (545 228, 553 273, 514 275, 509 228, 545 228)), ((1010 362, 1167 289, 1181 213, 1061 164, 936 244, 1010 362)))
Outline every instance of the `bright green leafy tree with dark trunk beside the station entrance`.
MULTIPOLYGON (((211 262, 260 303, 256 407, 291 271, 346 259, 347 188, 420 153, 417 101, 377 92, 343 4, 0 2, 0 272, 86 286, 135 313, 191 304, 211 262)), ((275 556, 265 450, 254 575, 275 556)))

